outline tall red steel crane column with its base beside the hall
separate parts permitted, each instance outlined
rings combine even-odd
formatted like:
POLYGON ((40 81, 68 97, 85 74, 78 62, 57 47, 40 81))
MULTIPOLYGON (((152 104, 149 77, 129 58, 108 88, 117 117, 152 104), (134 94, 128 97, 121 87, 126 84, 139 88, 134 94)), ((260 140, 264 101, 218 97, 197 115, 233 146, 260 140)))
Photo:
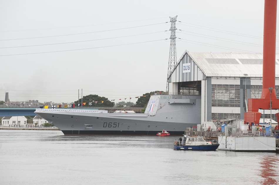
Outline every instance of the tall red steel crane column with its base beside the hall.
MULTIPOLYGON (((265 0, 263 28, 263 91, 261 99, 248 99, 248 112, 244 123, 258 125, 261 113, 258 109, 278 109, 275 93, 275 45, 277 0, 265 0)), ((279 120, 279 113, 276 114, 279 120)))

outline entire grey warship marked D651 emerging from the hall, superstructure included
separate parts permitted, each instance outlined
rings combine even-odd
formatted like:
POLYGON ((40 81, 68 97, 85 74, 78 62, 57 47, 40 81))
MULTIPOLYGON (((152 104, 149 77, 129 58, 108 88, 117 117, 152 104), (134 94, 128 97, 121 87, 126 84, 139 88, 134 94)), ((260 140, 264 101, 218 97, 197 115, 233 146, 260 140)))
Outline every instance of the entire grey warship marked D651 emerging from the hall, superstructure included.
POLYGON ((184 134, 201 123, 201 96, 152 95, 144 113, 84 109, 36 109, 36 114, 69 134, 156 135, 163 129, 184 134))

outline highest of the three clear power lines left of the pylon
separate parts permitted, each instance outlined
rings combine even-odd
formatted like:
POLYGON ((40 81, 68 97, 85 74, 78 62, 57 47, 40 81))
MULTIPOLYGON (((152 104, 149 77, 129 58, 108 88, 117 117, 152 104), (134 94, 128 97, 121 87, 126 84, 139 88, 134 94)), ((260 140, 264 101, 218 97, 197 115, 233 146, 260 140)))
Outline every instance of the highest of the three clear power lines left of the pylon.
MULTIPOLYGON (((164 22, 164 23, 168 23, 168 22, 164 22)), ((84 32, 84 33, 71 33, 71 34, 51 35, 51 36, 43 36, 43 37, 26 37, 26 38, 1 39, 0 41, 24 40, 24 39, 35 39, 35 38, 50 38, 50 37, 60 37, 60 36, 69 36, 69 35, 81 35, 81 34, 88 34, 88 33, 99 33, 99 32, 106 32, 106 31, 115 31, 115 30, 124 30, 124 29, 130 29, 130 28, 139 28, 139 27, 144 27, 144 26, 153 26, 153 25, 164 24, 164 23, 146 24, 146 25, 141 25, 141 26, 132 26, 132 27, 127 27, 127 28, 116 28, 116 29, 101 30, 101 31, 91 31, 91 32, 84 32)))

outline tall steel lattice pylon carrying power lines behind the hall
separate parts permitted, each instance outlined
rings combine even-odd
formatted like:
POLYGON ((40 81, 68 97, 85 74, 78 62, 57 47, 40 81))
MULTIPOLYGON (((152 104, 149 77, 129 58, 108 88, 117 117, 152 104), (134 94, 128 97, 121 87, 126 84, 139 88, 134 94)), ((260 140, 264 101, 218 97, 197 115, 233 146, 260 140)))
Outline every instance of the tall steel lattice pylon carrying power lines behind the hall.
POLYGON ((177 66, 177 60, 176 60, 176 44, 175 44, 175 22, 177 19, 177 16, 175 17, 169 17, 170 18, 170 23, 171 23, 171 28, 169 29, 171 31, 171 36, 170 36, 170 47, 169 47, 169 67, 168 67, 168 76, 167 76, 167 88, 166 91, 169 92, 169 76, 171 75, 172 71, 174 68, 177 66))

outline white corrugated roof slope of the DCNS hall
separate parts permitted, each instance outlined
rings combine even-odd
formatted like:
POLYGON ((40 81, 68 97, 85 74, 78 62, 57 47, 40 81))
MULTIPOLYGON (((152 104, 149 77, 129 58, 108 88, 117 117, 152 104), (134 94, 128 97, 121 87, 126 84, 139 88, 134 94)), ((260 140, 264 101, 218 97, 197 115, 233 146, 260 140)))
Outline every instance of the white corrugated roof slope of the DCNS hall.
MULTIPOLYGON (((262 53, 212 53, 188 52, 206 76, 261 77, 263 75, 262 53)), ((279 59, 279 54, 276 54, 279 59)), ((279 77, 279 62, 274 61, 275 74, 279 77)))

